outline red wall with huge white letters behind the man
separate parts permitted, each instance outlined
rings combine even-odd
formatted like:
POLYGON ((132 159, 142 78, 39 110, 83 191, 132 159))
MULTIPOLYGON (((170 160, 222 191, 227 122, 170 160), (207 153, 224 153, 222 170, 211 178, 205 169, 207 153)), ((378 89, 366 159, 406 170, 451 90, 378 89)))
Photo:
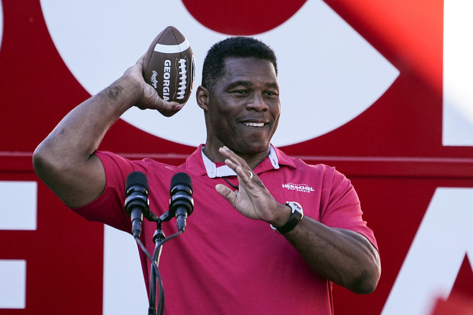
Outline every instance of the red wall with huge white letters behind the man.
MULTIPOLYGON (((470 1, 0 2, 0 314, 147 312, 133 238, 68 211, 31 158, 168 25, 190 41, 198 83, 215 41, 270 44, 282 102, 273 143, 352 180, 382 275, 366 296, 336 286, 336 314, 427 315, 437 298, 473 296, 470 1)), ((179 164, 205 141, 193 97, 172 118, 122 118, 101 150, 179 164)))

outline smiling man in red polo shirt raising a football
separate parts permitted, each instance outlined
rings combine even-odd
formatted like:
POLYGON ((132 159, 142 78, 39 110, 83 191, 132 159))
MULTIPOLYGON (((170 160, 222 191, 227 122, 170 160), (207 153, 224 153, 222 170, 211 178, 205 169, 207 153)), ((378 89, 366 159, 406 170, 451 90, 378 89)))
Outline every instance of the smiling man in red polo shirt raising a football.
MULTIPOLYGON (((270 145, 280 102, 268 46, 233 37, 209 50, 196 93, 207 139, 180 167, 97 151, 134 104, 165 116, 182 107, 144 82, 142 63, 143 57, 74 108, 35 150, 34 169, 73 211, 128 232, 123 200, 130 172, 148 176, 150 210, 158 215, 166 210, 172 175, 190 174, 195 210, 160 261, 168 314, 333 314, 332 283, 356 293, 374 290, 376 241, 350 182, 334 168, 307 165, 270 145), (288 189, 293 184, 304 189, 288 189)), ((143 225, 151 252, 155 225, 143 225)), ((147 279, 149 262, 141 261, 147 279)))

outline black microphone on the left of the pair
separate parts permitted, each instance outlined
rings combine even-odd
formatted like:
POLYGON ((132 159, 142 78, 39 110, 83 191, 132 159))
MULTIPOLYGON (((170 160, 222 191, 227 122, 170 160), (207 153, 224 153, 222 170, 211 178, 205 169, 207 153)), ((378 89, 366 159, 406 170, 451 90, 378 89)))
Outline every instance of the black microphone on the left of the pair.
POLYGON ((132 172, 127 177, 125 189, 125 212, 132 221, 133 237, 139 237, 143 214, 148 216, 148 178, 141 172, 132 172))

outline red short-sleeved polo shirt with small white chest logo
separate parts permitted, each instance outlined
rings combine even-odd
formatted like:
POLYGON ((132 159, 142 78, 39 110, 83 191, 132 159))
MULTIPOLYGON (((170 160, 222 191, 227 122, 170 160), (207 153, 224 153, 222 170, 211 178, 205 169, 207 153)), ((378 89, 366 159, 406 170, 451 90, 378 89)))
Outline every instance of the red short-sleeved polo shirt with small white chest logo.
MULTIPOLYGON (((165 244, 159 264, 165 314, 333 314, 332 283, 313 272, 267 222, 245 218, 221 197, 215 185, 229 185, 207 176, 201 152, 202 145, 179 167, 97 152, 106 188, 92 203, 72 210, 130 233, 123 206, 128 174, 147 175, 150 210, 160 216, 168 210, 171 177, 187 172, 193 182, 194 212, 185 233, 165 244)), ((297 201, 304 216, 359 232, 377 248, 348 179, 333 167, 307 165, 278 149, 275 153, 278 169, 266 158, 253 171, 278 202, 297 201)), ((237 185, 236 176, 227 179, 237 185)), ((143 222, 141 240, 151 253, 155 229, 155 223, 143 222)), ((163 223, 163 230, 167 236, 175 233, 175 221, 163 223)), ((148 284, 150 264, 140 255, 148 284)))

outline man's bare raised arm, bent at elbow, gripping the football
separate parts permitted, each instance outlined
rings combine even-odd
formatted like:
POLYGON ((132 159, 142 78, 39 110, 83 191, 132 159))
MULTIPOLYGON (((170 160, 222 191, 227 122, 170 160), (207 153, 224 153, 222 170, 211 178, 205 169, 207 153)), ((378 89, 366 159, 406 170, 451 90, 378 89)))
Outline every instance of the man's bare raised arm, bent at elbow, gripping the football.
POLYGON ((105 189, 94 155, 108 128, 133 105, 172 116, 183 104, 162 100, 142 76, 144 56, 109 87, 84 101, 51 131, 33 154, 38 177, 69 207, 83 206, 105 189))

